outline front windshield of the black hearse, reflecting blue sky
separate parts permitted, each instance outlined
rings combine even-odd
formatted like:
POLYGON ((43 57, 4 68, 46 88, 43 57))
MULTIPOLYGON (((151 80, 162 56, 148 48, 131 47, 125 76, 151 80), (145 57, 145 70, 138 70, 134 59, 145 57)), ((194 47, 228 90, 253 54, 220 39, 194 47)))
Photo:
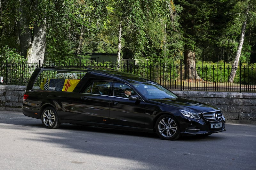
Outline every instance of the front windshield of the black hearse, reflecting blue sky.
POLYGON ((156 83, 135 84, 134 86, 141 95, 148 99, 178 98, 174 93, 156 83))

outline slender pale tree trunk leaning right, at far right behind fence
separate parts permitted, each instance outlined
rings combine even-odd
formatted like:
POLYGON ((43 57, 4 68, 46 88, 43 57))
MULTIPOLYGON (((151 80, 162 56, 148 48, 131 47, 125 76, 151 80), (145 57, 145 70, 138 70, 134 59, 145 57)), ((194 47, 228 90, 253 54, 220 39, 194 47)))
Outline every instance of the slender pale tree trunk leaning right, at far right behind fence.
POLYGON ((238 45, 238 48, 237 48, 237 51, 236 51, 236 58, 235 58, 235 61, 232 65, 232 69, 231 69, 231 72, 229 74, 229 77, 228 77, 228 82, 229 83, 233 83, 234 81, 234 78, 236 76, 236 67, 238 65, 238 62, 239 62, 239 59, 240 59, 240 56, 241 56, 241 52, 242 52, 242 48, 243 48, 243 44, 244 44, 244 36, 245 36, 245 28, 246 28, 246 22, 247 22, 247 15, 248 15, 248 11, 249 8, 247 8, 247 11, 246 11, 246 18, 245 18, 245 21, 243 23, 243 26, 242 26, 242 31, 241 31, 241 37, 240 37, 240 42, 239 42, 239 45, 238 45))

